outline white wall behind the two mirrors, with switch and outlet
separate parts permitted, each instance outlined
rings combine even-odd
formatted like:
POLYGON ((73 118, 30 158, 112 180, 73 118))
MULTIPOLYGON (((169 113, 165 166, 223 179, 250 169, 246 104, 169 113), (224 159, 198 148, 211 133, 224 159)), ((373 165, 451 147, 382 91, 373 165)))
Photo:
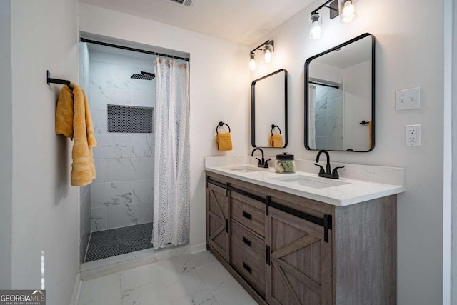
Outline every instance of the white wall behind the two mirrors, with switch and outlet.
MULTIPOLYGON (((275 61, 260 64, 251 80, 277 69, 291 76, 289 153, 315 159, 303 147, 303 65, 315 54, 364 32, 376 36, 376 146, 369 153, 333 152, 331 161, 406 168, 398 195, 398 304, 441 304, 443 249, 443 1, 358 2, 358 19, 341 24, 322 9, 323 39, 308 39, 315 1, 256 41, 275 42, 275 61), (436 22, 431 22, 436 20, 436 22), (422 87, 421 109, 395 111, 398 89, 422 87), (422 146, 404 145, 404 126, 422 125, 422 146)), ((247 55, 246 55, 247 57, 247 55)), ((248 59, 246 58, 246 64, 248 59)), ((249 140, 246 139, 248 143, 249 140)), ((274 155, 279 151, 267 149, 274 155)))

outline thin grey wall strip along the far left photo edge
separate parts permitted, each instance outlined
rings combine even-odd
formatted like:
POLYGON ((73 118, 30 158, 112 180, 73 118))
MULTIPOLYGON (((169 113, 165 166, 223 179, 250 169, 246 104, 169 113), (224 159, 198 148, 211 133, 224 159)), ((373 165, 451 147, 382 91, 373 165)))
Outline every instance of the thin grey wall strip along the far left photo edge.
POLYGON ((0 1, 0 289, 11 289, 11 1, 0 1))

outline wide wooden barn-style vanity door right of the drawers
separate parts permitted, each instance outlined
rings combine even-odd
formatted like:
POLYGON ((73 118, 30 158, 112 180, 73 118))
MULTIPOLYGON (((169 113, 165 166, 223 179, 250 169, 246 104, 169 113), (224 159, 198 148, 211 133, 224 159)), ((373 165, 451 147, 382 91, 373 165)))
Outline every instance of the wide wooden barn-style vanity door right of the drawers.
POLYGON ((268 210, 266 264, 268 304, 332 304, 331 232, 284 211, 268 210))

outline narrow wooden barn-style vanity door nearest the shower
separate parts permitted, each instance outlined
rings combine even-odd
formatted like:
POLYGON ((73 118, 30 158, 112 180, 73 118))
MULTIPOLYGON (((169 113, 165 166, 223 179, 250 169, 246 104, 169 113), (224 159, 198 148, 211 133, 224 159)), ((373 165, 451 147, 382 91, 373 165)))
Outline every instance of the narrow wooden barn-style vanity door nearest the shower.
POLYGON ((214 184, 206 188, 206 242, 229 261, 229 197, 214 184))

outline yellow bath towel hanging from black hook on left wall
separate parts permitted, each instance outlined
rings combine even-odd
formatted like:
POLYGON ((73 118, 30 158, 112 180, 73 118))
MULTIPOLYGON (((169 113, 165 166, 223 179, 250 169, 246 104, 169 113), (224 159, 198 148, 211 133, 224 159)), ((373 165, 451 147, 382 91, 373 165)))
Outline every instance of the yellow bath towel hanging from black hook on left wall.
POLYGON ((73 91, 63 86, 57 101, 56 134, 74 138, 71 156, 71 185, 86 186, 95 179, 92 147, 97 146, 91 111, 84 90, 71 83, 73 91))

